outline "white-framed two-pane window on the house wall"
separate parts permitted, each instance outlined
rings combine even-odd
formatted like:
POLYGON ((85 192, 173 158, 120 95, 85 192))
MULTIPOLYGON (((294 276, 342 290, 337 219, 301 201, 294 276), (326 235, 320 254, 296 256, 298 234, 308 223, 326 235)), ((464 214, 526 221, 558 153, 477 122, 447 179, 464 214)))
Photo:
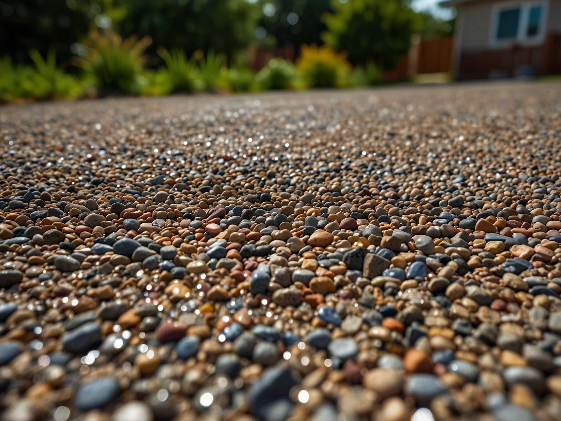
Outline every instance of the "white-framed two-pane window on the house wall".
POLYGON ((490 44, 541 42, 545 34, 546 3, 546 0, 541 0, 496 4, 491 20, 490 44))

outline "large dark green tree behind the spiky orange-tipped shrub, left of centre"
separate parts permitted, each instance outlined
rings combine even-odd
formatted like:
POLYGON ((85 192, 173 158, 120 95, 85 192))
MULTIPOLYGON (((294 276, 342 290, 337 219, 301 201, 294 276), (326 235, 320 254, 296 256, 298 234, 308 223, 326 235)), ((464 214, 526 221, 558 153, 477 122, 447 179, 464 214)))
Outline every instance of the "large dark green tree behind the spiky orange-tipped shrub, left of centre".
POLYGON ((123 36, 149 35, 156 49, 181 49, 189 56, 196 50, 234 54, 254 40, 261 10, 248 0, 118 0, 127 8, 119 32, 123 36))

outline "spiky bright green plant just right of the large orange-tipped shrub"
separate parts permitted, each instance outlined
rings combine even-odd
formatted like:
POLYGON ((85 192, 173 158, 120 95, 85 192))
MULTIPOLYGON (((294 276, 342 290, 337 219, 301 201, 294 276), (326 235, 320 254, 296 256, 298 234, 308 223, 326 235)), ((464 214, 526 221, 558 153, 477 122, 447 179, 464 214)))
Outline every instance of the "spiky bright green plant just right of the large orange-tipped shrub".
MULTIPOLYGON (((159 48, 158 54, 165 62, 162 75, 167 77, 171 92, 193 92, 201 88, 195 66, 187 60, 184 51, 159 48)), ((162 77, 162 76, 160 76, 162 77)))

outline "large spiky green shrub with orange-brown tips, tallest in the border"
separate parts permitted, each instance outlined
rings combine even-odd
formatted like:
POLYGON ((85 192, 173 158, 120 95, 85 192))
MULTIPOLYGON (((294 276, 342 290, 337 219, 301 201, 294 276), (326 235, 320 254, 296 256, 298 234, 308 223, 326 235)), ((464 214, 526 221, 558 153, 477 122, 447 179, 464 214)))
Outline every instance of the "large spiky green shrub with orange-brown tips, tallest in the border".
POLYGON ((123 40, 113 31, 93 31, 85 42, 85 56, 77 58, 75 64, 94 77, 102 95, 138 95, 142 91, 144 51, 150 43, 148 37, 123 40))

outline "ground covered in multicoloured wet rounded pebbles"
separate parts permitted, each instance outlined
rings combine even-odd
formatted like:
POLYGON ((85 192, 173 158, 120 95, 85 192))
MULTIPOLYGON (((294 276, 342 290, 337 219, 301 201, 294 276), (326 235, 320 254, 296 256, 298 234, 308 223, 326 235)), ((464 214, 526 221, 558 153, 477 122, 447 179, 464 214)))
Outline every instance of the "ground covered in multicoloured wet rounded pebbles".
POLYGON ((559 419, 559 84, 9 106, 0 136, 2 419, 559 419))

